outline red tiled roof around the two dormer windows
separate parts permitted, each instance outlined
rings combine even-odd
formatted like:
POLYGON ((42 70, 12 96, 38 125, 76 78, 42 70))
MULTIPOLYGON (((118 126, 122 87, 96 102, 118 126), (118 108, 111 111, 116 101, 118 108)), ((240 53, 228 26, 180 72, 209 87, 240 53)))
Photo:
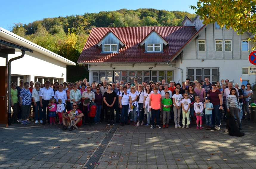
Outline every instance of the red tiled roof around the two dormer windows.
POLYGON ((194 26, 148 26, 148 27, 104 27, 93 28, 78 59, 78 63, 103 62, 167 62, 195 35, 194 26), (168 45, 160 53, 145 53, 139 46, 152 30, 155 30, 168 45), (101 53, 97 43, 112 31, 125 47, 119 53, 101 53))

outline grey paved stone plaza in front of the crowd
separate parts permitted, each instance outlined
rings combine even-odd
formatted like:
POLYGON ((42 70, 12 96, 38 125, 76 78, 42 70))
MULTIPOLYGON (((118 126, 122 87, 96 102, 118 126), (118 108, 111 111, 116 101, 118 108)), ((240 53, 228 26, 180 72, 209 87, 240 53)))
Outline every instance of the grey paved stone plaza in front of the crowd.
MULTIPOLYGON (((205 127, 205 126, 203 126, 205 127)), ((0 128, 0 168, 256 168, 256 124, 243 137, 214 131, 146 126, 14 124, 0 128)))

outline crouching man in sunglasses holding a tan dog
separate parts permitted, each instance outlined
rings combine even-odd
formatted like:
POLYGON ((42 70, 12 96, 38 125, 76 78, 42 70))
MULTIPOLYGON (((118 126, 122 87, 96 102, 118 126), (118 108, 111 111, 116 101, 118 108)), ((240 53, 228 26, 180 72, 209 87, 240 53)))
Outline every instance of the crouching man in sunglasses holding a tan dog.
POLYGON ((75 117, 72 117, 71 119, 69 119, 69 117, 68 117, 69 113, 70 113, 71 111, 74 111, 73 109, 72 109, 72 110, 69 110, 68 112, 65 112, 65 113, 62 114, 62 122, 63 122, 63 128, 62 128, 62 129, 63 129, 63 130, 66 130, 66 129, 67 129, 66 123, 67 123, 68 120, 69 120, 69 121, 70 121, 70 120, 75 120, 74 125, 69 128, 69 131, 72 131, 72 130, 74 129, 74 126, 75 126, 75 125, 76 125, 77 127, 79 127, 79 126, 82 125, 82 118, 83 118, 83 113, 82 113, 82 111, 77 108, 77 104, 76 104, 76 103, 73 103, 73 104, 72 104, 72 107, 73 107, 73 109, 75 110, 75 113, 76 113, 75 117))

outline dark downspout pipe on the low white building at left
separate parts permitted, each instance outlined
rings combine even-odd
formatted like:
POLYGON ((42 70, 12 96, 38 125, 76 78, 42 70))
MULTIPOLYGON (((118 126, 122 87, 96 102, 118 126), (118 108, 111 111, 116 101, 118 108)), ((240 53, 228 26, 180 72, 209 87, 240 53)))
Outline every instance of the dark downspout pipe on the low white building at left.
MULTIPOLYGON (((24 57, 25 51, 26 50, 22 49, 20 56, 14 57, 8 61, 8 86, 7 86, 7 89, 8 89, 8 125, 11 125, 11 87, 10 87, 10 85, 11 85, 11 62, 24 57)), ((17 82, 17 85, 18 85, 18 82, 17 82)))

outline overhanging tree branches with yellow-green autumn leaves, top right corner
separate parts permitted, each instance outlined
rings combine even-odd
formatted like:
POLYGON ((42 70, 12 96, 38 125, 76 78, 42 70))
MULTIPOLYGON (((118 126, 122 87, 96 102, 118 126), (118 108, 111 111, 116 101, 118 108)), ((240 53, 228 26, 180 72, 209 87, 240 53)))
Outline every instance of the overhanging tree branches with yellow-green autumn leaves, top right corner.
POLYGON ((196 6, 190 6, 204 20, 204 24, 214 23, 221 27, 232 27, 238 34, 256 33, 255 0, 198 0, 196 6))

